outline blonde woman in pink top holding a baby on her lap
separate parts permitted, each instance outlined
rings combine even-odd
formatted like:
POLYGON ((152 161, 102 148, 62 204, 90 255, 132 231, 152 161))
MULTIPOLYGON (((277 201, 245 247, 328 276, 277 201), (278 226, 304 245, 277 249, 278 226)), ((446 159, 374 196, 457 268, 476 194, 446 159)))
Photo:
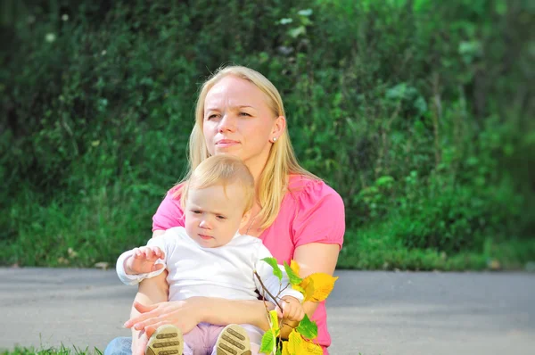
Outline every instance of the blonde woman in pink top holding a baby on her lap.
MULTIPOLYGON (((296 260, 300 277, 315 272, 332 275, 345 230, 342 198, 300 167, 288 136, 282 99, 276 87, 255 70, 227 67, 202 86, 190 136, 190 173, 201 161, 219 153, 242 159, 255 179, 257 202, 251 223, 240 232, 259 237, 279 264, 296 260)), ((152 237, 170 227, 184 226, 180 188, 181 184, 173 187, 161 202, 152 219, 152 237)), ((144 280, 140 287, 159 282, 166 282, 165 274, 144 280)), ((158 326, 169 323, 184 333, 202 322, 268 329, 263 301, 207 297, 155 305, 145 301, 136 299, 131 318, 125 323, 134 331, 134 353, 144 351, 139 349, 138 343, 144 342, 138 342, 137 331, 152 334, 158 326)), ((303 307, 317 322, 317 341, 328 354, 331 338, 326 328, 325 302, 307 301, 303 307)), ((283 337, 290 334, 291 326, 283 327, 283 337)))

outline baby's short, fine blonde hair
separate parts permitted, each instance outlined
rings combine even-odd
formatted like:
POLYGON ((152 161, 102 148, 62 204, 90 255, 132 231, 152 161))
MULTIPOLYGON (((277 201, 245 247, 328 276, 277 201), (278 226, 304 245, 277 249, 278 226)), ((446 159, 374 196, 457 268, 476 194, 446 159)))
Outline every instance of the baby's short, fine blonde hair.
POLYGON ((192 189, 202 189, 210 186, 223 186, 226 194, 226 186, 238 184, 243 188, 245 207, 243 213, 250 211, 254 204, 254 177, 249 168, 231 155, 220 154, 202 161, 186 181, 184 194, 180 198, 182 208, 185 207, 187 196, 192 189))

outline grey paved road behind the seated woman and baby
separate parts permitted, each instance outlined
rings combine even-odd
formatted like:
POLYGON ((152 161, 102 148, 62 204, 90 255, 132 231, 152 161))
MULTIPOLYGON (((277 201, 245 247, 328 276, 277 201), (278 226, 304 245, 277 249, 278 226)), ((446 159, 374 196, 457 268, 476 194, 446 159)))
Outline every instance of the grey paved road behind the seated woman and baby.
MULTIPOLYGON (((535 274, 337 275, 327 302, 333 355, 535 353, 535 274)), ((0 349, 103 350, 129 334, 121 325, 135 293, 113 271, 0 268, 0 349)))

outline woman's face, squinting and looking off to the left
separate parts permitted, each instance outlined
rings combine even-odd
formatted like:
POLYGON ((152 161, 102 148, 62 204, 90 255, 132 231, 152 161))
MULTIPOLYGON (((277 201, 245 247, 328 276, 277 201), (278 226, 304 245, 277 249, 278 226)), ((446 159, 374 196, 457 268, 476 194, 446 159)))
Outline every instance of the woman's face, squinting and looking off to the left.
POLYGON ((242 78, 228 75, 214 85, 204 102, 202 131, 211 155, 228 153, 263 169, 271 140, 283 132, 284 117, 276 117, 268 97, 242 78))

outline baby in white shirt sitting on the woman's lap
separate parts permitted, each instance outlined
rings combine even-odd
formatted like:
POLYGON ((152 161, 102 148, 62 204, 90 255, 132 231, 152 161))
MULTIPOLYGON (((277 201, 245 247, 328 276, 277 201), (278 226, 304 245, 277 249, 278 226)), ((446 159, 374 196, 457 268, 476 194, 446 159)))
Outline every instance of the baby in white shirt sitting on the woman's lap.
MULTIPOLYGON (((256 300, 262 284, 273 296, 280 293, 284 318, 300 321, 304 317, 302 294, 286 287, 273 275, 273 268, 262 259, 272 257, 259 238, 240 235, 254 203, 254 179, 238 158, 226 154, 210 157, 193 171, 181 190, 185 227, 173 227, 152 238, 141 248, 124 252, 117 260, 121 281, 136 285, 167 268, 169 301, 193 296, 232 300, 256 300), (282 290, 282 292, 281 292, 282 290)), ((138 293, 143 293, 140 289, 138 293)), ((152 293, 152 291, 151 291, 152 293)), ((151 295, 147 296, 155 300, 151 295)), ((258 354, 263 331, 252 325, 197 325, 187 334, 177 326, 161 326, 146 345, 147 354, 258 354), (169 352, 171 351, 171 352, 169 352)))

